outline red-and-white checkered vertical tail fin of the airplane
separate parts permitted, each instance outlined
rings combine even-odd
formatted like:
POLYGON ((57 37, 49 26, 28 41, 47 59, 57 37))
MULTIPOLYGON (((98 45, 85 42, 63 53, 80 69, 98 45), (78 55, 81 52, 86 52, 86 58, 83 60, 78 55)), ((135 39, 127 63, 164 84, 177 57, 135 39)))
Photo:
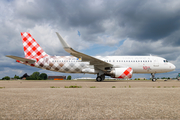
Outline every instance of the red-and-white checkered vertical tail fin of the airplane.
POLYGON ((30 33, 22 32, 21 37, 23 40, 24 54, 26 58, 43 58, 48 55, 30 33))

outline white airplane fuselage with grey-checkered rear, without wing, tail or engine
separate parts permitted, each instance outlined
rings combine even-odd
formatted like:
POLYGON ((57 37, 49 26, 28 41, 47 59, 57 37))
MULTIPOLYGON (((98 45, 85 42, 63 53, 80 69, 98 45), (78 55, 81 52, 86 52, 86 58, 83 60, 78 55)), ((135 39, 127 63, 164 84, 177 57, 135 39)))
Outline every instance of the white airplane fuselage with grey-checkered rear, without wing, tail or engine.
MULTIPOLYGON (((175 69, 166 59, 156 56, 93 56, 113 65, 113 68, 131 67, 133 73, 165 73, 175 69)), ((30 64, 27 64, 30 65, 30 64)), ((35 63, 34 67, 63 72, 97 74, 99 71, 73 56, 47 56, 35 63)))

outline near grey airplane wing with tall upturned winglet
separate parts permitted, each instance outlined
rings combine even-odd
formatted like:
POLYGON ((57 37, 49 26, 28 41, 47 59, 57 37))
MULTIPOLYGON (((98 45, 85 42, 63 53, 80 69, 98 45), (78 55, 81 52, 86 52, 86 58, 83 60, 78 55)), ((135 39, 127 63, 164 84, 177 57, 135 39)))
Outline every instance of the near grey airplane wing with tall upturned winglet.
POLYGON ((97 59, 97 58, 95 58, 95 57, 86 55, 86 54, 84 54, 84 53, 81 53, 81 52, 78 52, 78 51, 72 49, 72 48, 64 41, 64 39, 60 36, 59 33, 56 32, 56 34, 57 34, 60 42, 62 43, 64 50, 65 50, 66 52, 70 53, 71 55, 77 57, 77 58, 81 58, 81 60, 82 60, 83 62, 90 62, 90 65, 94 65, 95 68, 98 68, 98 69, 100 69, 100 70, 102 70, 102 71, 105 71, 105 68, 106 68, 106 67, 112 67, 112 66, 113 66, 113 65, 110 64, 110 63, 104 62, 104 61, 102 61, 102 60, 100 60, 100 59, 97 59))

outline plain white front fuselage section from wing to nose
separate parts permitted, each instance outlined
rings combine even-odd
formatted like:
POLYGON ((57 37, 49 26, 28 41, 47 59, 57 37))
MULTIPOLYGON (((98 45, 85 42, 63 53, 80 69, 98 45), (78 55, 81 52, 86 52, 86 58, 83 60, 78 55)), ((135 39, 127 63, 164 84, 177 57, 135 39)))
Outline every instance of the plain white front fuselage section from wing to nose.
POLYGON ((175 69, 172 63, 156 56, 108 56, 103 60, 114 67, 131 67, 133 73, 165 73, 175 69))

